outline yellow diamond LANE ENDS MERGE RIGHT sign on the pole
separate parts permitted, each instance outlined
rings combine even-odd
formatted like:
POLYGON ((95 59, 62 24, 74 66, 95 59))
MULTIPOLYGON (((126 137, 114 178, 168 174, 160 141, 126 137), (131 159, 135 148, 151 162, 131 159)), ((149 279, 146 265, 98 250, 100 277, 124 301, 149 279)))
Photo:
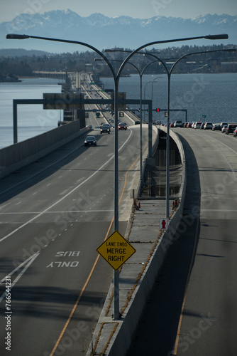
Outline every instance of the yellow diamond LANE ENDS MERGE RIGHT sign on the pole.
POLYGON ((114 233, 97 248, 97 252, 116 271, 136 252, 136 249, 133 248, 128 240, 124 239, 118 231, 114 231, 114 233))

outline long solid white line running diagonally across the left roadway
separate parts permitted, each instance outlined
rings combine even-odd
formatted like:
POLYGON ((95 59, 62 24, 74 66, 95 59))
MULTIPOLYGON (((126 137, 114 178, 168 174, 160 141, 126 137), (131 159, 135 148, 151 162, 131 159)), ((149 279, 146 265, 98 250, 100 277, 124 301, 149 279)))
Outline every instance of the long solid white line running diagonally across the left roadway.
MULTIPOLYGON (((123 143, 123 145, 121 145, 121 147, 119 148, 118 152, 123 148, 123 146, 126 144, 126 142, 128 142, 128 140, 130 139, 132 135, 132 131, 130 130, 130 135, 128 136, 128 139, 123 143)), ((106 164, 109 163, 109 161, 111 161, 111 159, 114 158, 114 155, 112 157, 110 157, 104 164, 101 165, 101 167, 99 167, 99 169, 97 169, 97 171, 95 171, 94 173, 92 173, 92 175, 90 175, 87 179, 84 180, 84 182, 80 183, 77 185, 77 187, 75 187, 74 189, 72 189, 70 192, 68 192, 67 194, 65 194, 64 197, 58 199, 57 201, 55 201, 54 204, 48 206, 47 209, 41 211, 38 215, 34 216, 32 219, 26 221, 26 223, 22 224, 21 226, 18 226, 17 229, 11 231, 9 234, 7 234, 6 236, 4 236, 2 239, 0 239, 1 241, 4 241, 5 239, 7 239, 9 236, 13 235, 15 232, 21 230, 24 226, 30 224, 32 221, 34 221, 35 219, 38 219, 38 217, 40 217, 41 215, 45 214, 48 210, 52 209, 53 206, 57 205, 58 203, 60 203, 63 199, 67 198, 70 194, 72 194, 73 192, 75 192, 75 190, 77 190, 79 187, 82 186, 82 184, 86 183, 89 181, 89 179, 91 179, 92 177, 94 177, 95 174, 97 174, 99 171, 101 171, 101 169, 103 169, 106 164)))

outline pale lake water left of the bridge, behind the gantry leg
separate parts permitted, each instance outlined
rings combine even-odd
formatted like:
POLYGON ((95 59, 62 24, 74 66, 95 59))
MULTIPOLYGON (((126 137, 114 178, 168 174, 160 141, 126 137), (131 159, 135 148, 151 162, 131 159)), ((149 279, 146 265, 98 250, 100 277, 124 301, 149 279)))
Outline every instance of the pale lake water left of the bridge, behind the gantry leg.
MULTIPOLYGON (((64 80, 22 79, 19 83, 0 83, 0 149, 13 144, 13 99, 43 99, 43 93, 61 93, 64 80)), ((62 112, 43 110, 43 105, 18 106, 18 142, 57 127, 62 112)))

